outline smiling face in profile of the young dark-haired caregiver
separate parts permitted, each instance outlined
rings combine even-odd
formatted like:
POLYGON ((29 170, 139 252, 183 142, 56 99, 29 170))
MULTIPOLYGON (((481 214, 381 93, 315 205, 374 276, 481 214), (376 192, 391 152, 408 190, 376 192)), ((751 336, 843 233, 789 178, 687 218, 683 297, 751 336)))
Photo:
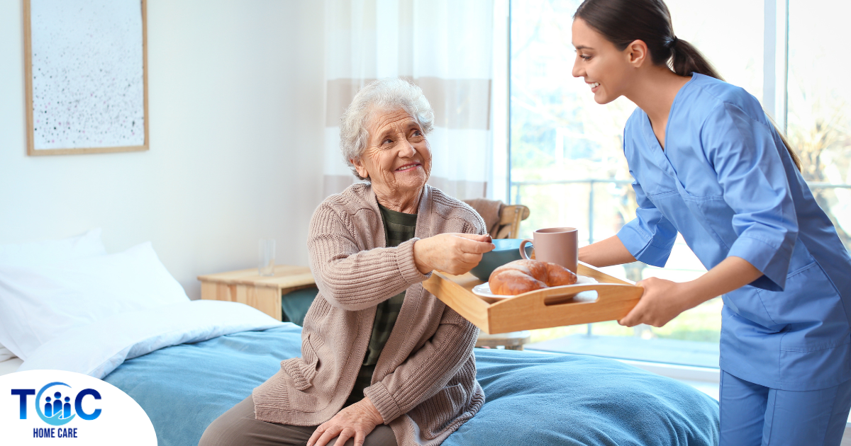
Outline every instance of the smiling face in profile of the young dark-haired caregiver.
POLYGON ((597 104, 608 104, 630 88, 632 72, 636 65, 632 46, 623 51, 614 47, 606 37, 591 28, 585 20, 577 18, 572 27, 576 48, 574 77, 582 77, 594 93, 597 104))

